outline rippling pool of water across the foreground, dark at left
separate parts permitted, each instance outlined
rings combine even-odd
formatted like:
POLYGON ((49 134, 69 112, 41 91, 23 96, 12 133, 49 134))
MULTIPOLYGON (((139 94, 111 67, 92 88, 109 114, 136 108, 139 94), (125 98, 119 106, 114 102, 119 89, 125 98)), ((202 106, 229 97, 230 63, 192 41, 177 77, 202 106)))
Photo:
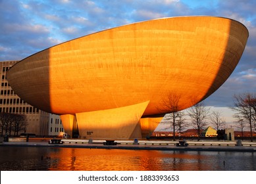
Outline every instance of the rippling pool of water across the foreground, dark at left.
POLYGON ((0 170, 255 171, 255 152, 0 147, 0 170))

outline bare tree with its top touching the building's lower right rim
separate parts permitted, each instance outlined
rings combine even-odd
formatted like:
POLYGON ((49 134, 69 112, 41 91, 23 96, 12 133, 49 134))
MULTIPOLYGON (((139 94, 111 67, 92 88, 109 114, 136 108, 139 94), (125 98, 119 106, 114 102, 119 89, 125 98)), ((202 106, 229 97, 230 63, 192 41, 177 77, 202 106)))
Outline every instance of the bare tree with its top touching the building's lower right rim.
POLYGON ((191 126, 197 129, 197 141, 200 140, 201 129, 207 126, 205 120, 209 118, 209 110, 203 102, 197 103, 189 108, 188 116, 191 119, 191 126))

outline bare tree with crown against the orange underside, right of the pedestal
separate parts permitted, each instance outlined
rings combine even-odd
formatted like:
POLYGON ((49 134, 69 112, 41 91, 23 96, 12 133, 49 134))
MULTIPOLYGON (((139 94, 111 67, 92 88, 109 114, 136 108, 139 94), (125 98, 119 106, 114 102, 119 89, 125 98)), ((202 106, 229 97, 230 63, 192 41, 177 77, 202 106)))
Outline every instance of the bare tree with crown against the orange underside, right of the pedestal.
POLYGON ((176 118, 178 117, 178 110, 180 106, 180 95, 174 92, 169 92, 165 98, 163 98, 161 106, 158 107, 160 112, 167 112, 166 120, 170 121, 170 128, 173 129, 173 140, 175 140, 175 127, 176 118))

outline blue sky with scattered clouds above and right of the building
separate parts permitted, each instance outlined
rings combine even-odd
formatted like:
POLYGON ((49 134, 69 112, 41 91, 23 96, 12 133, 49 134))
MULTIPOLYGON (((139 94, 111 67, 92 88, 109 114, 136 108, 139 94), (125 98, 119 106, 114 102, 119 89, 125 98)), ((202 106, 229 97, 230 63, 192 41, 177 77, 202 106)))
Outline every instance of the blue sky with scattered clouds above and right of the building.
POLYGON ((222 16, 249 30, 242 58, 206 106, 234 121, 233 96, 256 92, 255 0, 0 0, 0 61, 21 60, 38 51, 101 30, 172 16, 222 16))

